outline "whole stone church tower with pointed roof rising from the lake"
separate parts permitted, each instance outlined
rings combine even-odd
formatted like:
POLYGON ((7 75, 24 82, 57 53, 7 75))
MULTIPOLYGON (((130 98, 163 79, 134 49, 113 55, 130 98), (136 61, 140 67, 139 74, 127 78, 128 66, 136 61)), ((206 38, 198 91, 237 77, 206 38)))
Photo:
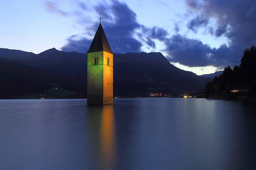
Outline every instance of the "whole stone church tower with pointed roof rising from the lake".
POLYGON ((87 51, 87 104, 113 104, 113 52, 101 22, 87 51))

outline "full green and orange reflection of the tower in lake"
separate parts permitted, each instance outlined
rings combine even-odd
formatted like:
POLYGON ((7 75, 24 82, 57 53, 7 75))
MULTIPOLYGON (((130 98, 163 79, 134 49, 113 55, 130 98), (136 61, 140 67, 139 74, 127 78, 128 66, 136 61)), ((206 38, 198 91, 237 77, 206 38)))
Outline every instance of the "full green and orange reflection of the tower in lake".
POLYGON ((113 105, 88 105, 89 129, 93 132, 91 143, 97 143, 100 169, 113 169, 115 164, 115 122, 113 105))

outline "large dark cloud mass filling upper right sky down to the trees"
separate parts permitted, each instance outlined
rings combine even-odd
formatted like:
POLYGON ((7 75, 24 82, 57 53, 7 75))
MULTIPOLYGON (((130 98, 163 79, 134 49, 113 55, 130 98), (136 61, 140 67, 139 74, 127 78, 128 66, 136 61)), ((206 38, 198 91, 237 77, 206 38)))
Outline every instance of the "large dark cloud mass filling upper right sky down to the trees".
POLYGON ((197 14, 188 29, 196 32, 199 27, 216 37, 227 37, 228 46, 211 48, 201 41, 188 39, 179 34, 165 41, 169 61, 186 66, 234 66, 240 63, 243 50, 256 44, 256 5, 253 0, 186 0, 191 14, 197 14), (198 15, 198 13, 200 13, 198 15), (217 27, 208 26, 213 19, 217 27))

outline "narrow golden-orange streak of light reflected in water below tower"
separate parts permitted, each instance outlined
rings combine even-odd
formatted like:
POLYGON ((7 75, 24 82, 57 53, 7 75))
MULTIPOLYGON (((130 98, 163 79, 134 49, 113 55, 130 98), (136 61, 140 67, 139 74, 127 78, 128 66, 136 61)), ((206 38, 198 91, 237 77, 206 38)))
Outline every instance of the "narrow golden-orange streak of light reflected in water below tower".
POLYGON ((115 123, 113 105, 104 105, 101 120, 102 169, 113 169, 115 160, 115 123))

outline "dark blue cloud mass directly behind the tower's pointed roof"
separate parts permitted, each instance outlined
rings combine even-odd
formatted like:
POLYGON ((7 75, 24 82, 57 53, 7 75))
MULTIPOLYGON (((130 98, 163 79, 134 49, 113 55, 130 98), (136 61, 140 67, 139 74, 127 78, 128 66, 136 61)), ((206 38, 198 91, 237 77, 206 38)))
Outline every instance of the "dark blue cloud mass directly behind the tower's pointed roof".
MULTIPOLYGON (((82 6, 81 6, 82 5, 82 6)), ((83 10, 88 8, 83 7, 83 10)), ((114 53, 141 52, 142 43, 133 37, 135 30, 140 28, 136 14, 125 3, 112 1, 111 4, 99 4, 94 10, 102 12, 102 27, 107 35, 114 53)), ((93 23, 91 32, 96 32, 99 22, 93 23)), ((83 37, 80 40, 68 39, 62 47, 63 51, 87 52, 92 39, 83 37), (90 43, 89 43, 90 42, 90 43)), ((154 45, 154 42, 149 42, 154 45)))

